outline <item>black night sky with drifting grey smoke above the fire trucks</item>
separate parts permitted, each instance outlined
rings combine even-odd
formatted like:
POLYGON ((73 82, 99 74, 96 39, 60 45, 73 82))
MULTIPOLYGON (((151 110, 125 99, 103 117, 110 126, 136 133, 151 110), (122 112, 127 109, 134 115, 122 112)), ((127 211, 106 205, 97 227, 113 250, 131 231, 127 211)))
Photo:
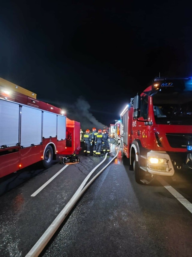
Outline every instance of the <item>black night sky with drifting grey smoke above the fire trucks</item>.
POLYGON ((83 130, 114 124, 155 77, 192 76, 192 4, 1 1, 0 77, 83 130))

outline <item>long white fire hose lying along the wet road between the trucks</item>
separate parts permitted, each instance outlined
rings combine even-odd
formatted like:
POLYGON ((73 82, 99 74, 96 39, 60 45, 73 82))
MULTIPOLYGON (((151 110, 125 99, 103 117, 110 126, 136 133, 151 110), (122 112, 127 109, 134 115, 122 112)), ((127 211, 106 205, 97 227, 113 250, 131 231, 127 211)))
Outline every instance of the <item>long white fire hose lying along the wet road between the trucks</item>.
MULTIPOLYGON (((120 147, 119 147, 120 149, 120 147)), ((119 153, 119 150, 117 154, 119 153)), ((117 156, 117 155, 116 155, 117 156)), ((114 158, 116 158, 116 156, 114 158)), ((85 186, 86 182, 88 181, 89 177, 93 174, 93 172, 106 160, 107 153, 105 155, 105 158, 103 161, 101 161, 89 174, 88 176, 83 180, 82 184, 79 186, 75 194, 72 196, 72 198, 69 200, 69 202, 65 205, 65 207, 62 209, 62 211, 58 214, 58 216, 55 218, 55 220, 51 223, 51 225, 47 228, 47 230, 44 232, 44 234, 40 237, 40 239, 35 243, 35 245, 32 247, 32 249, 27 253, 25 257, 37 257, 45 248, 49 240, 53 237, 61 223, 64 221, 64 219, 67 217, 73 206, 76 204, 76 202, 79 200, 79 198, 82 196, 82 194, 85 192, 83 187, 85 186), (83 190, 82 190, 83 189, 83 190), (83 191, 83 192, 82 192, 83 191)), ((113 158, 113 159, 114 159, 113 158)), ((112 160, 113 160, 112 159, 112 160)), ((111 160, 111 161, 112 161, 111 160)), ((110 161, 110 162, 111 162, 110 161)), ((108 165, 106 165, 107 167, 108 165)), ((104 169, 102 169, 103 171, 104 169)), ((101 172, 100 172, 101 173, 101 172)), ((96 177, 95 177, 96 178, 96 177)), ((93 180, 93 179, 92 179, 93 180)), ((92 181, 91 180, 91 181, 92 181)), ((92 183, 92 182, 91 182, 92 183)), ((88 183, 90 185, 90 182, 88 183)), ((87 186, 86 186, 87 188, 87 186)))

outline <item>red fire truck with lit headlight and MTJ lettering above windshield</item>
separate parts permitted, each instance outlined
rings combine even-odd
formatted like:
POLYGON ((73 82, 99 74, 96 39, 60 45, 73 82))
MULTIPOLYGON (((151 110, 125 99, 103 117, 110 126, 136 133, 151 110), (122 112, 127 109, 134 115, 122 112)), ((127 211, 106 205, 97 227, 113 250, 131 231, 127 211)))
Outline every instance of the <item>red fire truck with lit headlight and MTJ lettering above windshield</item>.
POLYGON ((192 168, 192 77, 155 78, 120 117, 123 155, 137 183, 192 168))

